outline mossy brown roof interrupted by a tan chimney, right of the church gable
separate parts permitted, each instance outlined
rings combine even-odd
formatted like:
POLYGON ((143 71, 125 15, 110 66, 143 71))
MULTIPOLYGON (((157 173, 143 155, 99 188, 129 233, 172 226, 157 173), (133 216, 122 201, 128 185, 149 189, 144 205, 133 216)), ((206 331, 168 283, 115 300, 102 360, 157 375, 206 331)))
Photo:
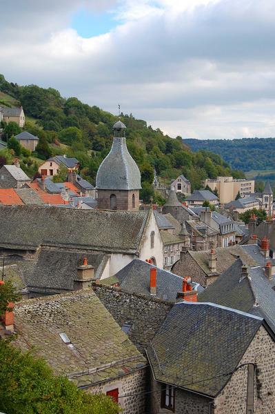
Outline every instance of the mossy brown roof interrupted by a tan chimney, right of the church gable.
MULTIPOLYGON (((241 259, 243 259, 249 266, 257 266, 258 263, 256 260, 253 259, 248 253, 246 253, 242 247, 243 246, 238 246, 238 244, 236 244, 232 247, 218 247, 215 249, 217 257, 217 273, 223 273, 225 270, 227 270, 227 268, 229 268, 236 261, 236 259, 238 259, 238 257, 241 257, 241 259)), ((208 267, 210 250, 188 250, 186 254, 190 255, 195 260, 198 266, 200 266, 201 269, 205 272, 205 275, 212 275, 212 272, 208 267)), ((178 260, 178 262, 176 262, 172 267, 172 271, 176 273, 176 275, 186 276, 189 269, 185 260, 178 260)))

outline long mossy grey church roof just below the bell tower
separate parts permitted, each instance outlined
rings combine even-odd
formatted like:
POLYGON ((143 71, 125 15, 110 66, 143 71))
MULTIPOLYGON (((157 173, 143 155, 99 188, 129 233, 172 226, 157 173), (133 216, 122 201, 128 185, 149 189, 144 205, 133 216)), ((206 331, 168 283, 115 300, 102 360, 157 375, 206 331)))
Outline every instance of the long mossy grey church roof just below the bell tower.
POLYGON ((134 254, 139 251, 150 214, 150 210, 0 206, 0 246, 37 248, 52 244, 134 254))

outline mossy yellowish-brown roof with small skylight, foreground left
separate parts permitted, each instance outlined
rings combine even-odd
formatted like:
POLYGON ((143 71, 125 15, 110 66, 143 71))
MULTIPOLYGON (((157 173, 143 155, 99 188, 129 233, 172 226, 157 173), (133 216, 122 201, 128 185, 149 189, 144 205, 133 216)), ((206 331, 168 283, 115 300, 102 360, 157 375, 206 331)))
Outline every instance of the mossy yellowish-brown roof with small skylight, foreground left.
POLYGON ((92 290, 28 299, 15 306, 14 317, 18 332, 14 344, 23 350, 34 346, 55 374, 67 375, 77 386, 103 382, 146 365, 92 290), (70 344, 63 342, 61 333, 70 344))

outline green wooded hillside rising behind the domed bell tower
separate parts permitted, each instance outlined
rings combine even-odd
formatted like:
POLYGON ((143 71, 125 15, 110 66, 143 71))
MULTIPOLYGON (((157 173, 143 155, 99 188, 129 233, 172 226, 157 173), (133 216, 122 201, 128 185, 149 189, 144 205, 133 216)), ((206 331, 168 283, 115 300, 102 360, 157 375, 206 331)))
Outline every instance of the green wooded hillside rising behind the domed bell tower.
MULTIPOLYGON (((112 126, 118 117, 97 106, 82 103, 76 97, 65 99, 53 88, 19 86, 0 75, 0 106, 19 104, 27 116, 26 130, 40 139, 37 154, 28 159, 23 157, 24 168, 34 171, 32 159, 65 153, 79 159, 81 175, 94 184, 96 170, 112 145, 112 126)), ((172 139, 132 114, 121 114, 121 121, 127 126, 128 149, 141 170, 143 199, 152 194, 154 169, 167 184, 172 178, 184 174, 193 189, 200 188, 201 180, 207 177, 243 177, 242 172, 232 171, 218 155, 205 151, 194 153, 183 144, 181 137, 172 139)))

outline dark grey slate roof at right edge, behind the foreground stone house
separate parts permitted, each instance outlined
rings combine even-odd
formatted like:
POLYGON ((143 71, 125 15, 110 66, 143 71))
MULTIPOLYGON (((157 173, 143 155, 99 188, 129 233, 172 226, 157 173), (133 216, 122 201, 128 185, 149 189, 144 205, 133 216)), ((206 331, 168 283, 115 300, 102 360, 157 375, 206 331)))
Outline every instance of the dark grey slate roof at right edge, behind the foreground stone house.
POLYGON ((260 266, 248 267, 248 277, 243 278, 243 264, 241 259, 236 260, 214 284, 198 295, 198 301, 213 302, 259 315, 275 329, 274 282, 269 282, 260 266))

